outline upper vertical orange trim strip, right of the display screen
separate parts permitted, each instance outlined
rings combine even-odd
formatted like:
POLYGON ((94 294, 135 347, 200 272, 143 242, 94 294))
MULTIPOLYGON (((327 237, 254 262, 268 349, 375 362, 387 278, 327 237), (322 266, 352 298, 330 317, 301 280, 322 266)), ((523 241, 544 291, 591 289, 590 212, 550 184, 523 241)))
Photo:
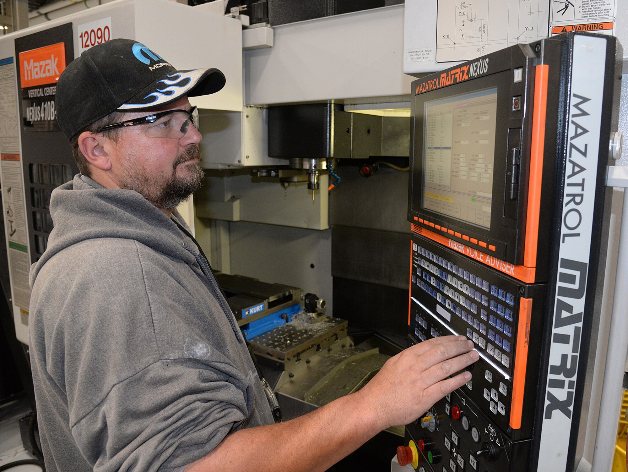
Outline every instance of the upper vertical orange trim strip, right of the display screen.
POLYGON ((549 66, 537 65, 534 77, 534 116, 530 148, 530 177, 528 184, 528 213, 523 265, 536 266, 539 240, 539 213, 541 212, 541 182, 543 180, 543 152, 545 148, 545 114, 548 102, 549 66))

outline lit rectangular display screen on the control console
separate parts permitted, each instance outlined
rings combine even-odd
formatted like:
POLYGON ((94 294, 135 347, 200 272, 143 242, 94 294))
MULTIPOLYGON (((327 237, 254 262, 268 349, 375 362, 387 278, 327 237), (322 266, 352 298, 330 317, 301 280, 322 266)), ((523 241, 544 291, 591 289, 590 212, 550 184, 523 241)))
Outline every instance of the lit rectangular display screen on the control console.
POLYGON ((423 208, 490 229, 497 87, 425 102, 423 208))

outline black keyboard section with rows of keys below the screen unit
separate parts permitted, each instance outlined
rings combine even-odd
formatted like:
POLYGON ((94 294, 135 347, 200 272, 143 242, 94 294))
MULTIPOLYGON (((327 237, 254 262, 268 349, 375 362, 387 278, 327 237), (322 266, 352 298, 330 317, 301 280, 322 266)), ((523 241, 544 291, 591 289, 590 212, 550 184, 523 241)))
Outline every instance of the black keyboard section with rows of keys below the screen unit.
POLYGON ((454 334, 474 341, 480 358, 471 366, 473 378, 463 390, 492 422, 514 437, 530 433, 521 428, 522 395, 514 401, 512 395, 513 388, 521 392, 525 385, 530 319, 519 321, 530 291, 531 286, 456 251, 420 236, 413 238, 411 339, 420 342, 454 334), (526 346, 519 354, 524 367, 518 370, 517 341, 526 346))

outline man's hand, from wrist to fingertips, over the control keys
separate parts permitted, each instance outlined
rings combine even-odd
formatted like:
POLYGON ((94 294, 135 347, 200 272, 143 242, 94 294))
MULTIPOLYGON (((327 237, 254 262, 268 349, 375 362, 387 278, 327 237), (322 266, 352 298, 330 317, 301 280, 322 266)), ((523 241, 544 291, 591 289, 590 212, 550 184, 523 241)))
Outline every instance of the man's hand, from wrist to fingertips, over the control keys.
POLYGON ((389 359, 355 395, 362 397, 367 414, 379 420, 380 429, 409 424, 470 380, 470 372, 448 376, 477 361, 473 347, 464 336, 416 344, 389 359))

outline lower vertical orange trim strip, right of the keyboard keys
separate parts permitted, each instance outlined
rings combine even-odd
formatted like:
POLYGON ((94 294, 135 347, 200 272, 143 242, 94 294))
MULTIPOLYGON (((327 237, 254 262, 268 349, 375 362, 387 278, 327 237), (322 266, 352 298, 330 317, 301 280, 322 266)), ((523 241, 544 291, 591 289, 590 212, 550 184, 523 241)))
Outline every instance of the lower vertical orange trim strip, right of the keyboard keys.
POLYGON ((521 428, 531 319, 532 299, 519 299, 519 326, 517 327, 517 350, 515 351, 517 358, 514 361, 514 371, 512 373, 512 403, 509 423, 512 429, 521 428))

